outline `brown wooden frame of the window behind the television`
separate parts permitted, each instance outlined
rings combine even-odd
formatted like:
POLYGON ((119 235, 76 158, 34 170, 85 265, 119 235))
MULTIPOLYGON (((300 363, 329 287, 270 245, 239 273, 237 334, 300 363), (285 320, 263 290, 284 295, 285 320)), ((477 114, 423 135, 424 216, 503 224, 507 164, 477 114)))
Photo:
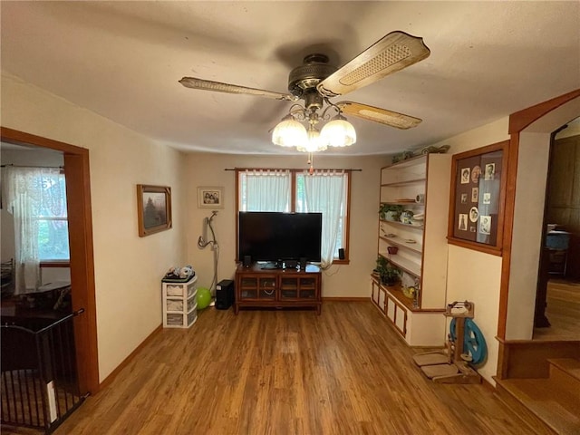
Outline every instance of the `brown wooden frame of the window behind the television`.
MULTIPOLYGON (((247 170, 287 170, 290 172, 290 213, 296 212, 296 174, 303 174, 305 169, 292 169, 292 168, 236 168, 236 261, 239 262, 240 259, 237 258, 237 239, 238 239, 238 215, 239 215, 239 202, 240 202, 240 173, 247 170)), ((348 265, 350 264, 350 238, 351 238, 351 184, 352 184, 352 169, 315 169, 316 171, 324 170, 336 170, 343 171, 346 175, 346 191, 345 191, 345 216, 344 216, 344 230, 343 230, 343 249, 344 249, 344 259, 340 259, 338 256, 333 257, 333 265, 348 265)))

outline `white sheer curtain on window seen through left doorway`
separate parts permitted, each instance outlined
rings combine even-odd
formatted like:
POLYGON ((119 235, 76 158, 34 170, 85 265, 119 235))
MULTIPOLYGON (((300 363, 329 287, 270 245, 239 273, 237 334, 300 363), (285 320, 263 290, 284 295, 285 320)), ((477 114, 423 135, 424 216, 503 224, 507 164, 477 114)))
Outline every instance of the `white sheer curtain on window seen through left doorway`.
POLYGON ((57 189, 59 177, 60 169, 5 167, 3 196, 14 216, 15 295, 35 292, 41 284, 37 218, 66 214, 65 193, 57 189))

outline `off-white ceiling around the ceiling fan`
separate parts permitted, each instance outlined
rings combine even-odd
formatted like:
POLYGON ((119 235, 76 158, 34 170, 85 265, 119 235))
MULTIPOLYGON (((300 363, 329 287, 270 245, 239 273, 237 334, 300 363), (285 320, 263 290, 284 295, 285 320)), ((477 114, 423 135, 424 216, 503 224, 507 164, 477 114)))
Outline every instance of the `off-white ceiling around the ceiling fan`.
MULTIPOLYGON (((205 92, 195 76, 287 92, 307 53, 337 66, 394 30, 430 57, 349 100, 419 117, 350 119, 335 154, 417 149, 580 88, 580 2, 8 2, 2 70, 182 150, 287 153, 268 131, 289 102, 205 92)), ((331 151, 324 151, 331 153, 331 151)))

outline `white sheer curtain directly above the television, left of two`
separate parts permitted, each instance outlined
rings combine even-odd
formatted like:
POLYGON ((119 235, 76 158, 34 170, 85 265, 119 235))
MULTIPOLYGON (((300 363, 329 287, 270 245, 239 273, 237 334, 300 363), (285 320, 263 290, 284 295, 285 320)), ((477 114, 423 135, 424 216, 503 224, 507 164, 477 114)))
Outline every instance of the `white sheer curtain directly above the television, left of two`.
POLYGON ((241 172, 240 211, 290 211, 290 171, 274 169, 241 172))

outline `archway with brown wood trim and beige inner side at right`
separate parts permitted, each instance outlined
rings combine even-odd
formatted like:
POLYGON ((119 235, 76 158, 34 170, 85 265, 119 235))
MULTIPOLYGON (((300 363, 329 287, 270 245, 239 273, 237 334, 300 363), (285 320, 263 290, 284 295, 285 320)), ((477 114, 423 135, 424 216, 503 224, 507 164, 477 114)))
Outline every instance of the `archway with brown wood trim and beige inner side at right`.
POLYGON ((507 376, 510 364, 507 342, 530 340, 533 334, 550 135, 578 115, 580 90, 517 111, 509 117, 504 256, 498 316, 499 379, 507 376))

